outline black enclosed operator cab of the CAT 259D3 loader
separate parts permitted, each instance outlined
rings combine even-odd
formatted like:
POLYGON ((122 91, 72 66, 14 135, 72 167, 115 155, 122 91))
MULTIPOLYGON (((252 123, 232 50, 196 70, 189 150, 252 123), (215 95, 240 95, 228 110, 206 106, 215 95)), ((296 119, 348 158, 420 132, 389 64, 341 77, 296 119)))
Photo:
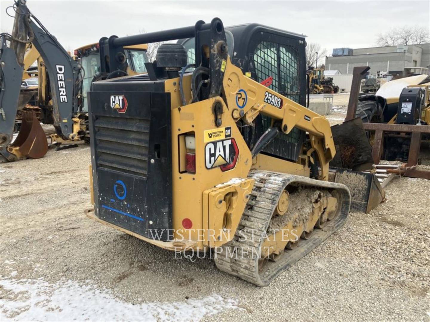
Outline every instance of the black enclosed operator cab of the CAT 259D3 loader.
MULTIPOLYGON (((261 24, 240 24, 225 27, 228 55, 231 62, 257 82, 273 77, 268 86, 273 91, 306 106, 306 41, 298 33, 267 27, 261 24)), ((194 38, 179 39, 187 49, 188 64, 195 62, 194 38)), ((271 118, 259 115, 255 133, 244 129, 249 146, 271 126, 271 118)), ((297 128, 290 134, 279 133, 264 152, 290 161, 296 161, 304 142, 304 131, 297 128)))

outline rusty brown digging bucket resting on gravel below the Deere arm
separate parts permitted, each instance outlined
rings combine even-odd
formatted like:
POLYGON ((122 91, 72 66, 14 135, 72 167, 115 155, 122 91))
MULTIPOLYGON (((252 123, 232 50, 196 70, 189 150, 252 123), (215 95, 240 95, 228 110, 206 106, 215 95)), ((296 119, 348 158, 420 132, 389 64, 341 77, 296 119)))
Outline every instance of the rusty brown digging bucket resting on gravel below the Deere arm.
POLYGON ((16 155, 18 159, 38 159, 46 154, 48 151, 48 141, 33 111, 23 113, 21 130, 7 150, 16 155))

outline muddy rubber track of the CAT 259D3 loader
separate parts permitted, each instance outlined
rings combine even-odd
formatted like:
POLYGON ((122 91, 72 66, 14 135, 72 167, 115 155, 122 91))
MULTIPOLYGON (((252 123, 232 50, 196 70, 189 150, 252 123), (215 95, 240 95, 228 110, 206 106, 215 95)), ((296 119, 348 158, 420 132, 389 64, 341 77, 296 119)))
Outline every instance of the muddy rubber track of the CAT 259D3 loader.
MULTIPOLYGON (((350 192, 347 186, 339 183, 285 173, 252 170, 248 177, 255 180, 251 196, 233 240, 226 243, 222 247, 222 251, 217 253, 215 264, 224 272, 238 276, 257 286, 266 286, 344 224, 350 209, 350 192), (271 260, 262 258, 259 250, 261 251, 265 239, 261 237, 267 236, 270 223, 273 223, 273 219, 276 218, 276 211, 279 211, 279 198, 282 194, 286 194, 284 191, 287 187, 294 186, 301 187, 301 190, 313 190, 312 193, 327 191, 323 194, 335 197, 337 200, 335 213, 324 225, 320 225, 319 221, 315 224, 311 222, 312 228, 303 231, 300 240, 294 244, 287 243, 285 251, 282 249, 279 254, 272 254, 271 260), (254 238, 251 238, 249 231, 252 231, 254 238), (248 238, 244 238, 244 236, 248 238), (238 255, 238 249, 241 249, 240 255, 238 255)), ((301 199, 299 202, 304 204, 307 202, 312 207, 314 200, 301 199)), ((292 201, 290 201, 290 205, 292 201)), ((295 202, 297 201, 295 200, 295 202)), ((307 209, 312 208, 308 206, 307 209)))

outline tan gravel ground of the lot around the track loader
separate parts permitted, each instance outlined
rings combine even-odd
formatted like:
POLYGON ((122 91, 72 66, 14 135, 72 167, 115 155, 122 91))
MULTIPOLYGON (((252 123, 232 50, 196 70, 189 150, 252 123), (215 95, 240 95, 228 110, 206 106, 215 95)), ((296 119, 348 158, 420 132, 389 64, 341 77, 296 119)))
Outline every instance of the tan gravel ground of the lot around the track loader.
MULTIPOLYGON (((70 302, 52 307, 52 294, 76 283, 93 289, 88 301, 94 289, 109 292, 117 312, 157 313, 142 309, 142 320, 430 321, 430 181, 394 179, 384 204, 351 213, 326 242, 258 288, 221 273, 212 259, 175 259, 86 218, 89 162, 89 147, 80 145, 0 164, 0 320, 29 319, 35 308, 68 312, 70 302), (27 305, 38 294, 28 285, 37 281, 45 298, 27 305)), ((86 317, 95 319, 82 313, 77 320, 86 317)))

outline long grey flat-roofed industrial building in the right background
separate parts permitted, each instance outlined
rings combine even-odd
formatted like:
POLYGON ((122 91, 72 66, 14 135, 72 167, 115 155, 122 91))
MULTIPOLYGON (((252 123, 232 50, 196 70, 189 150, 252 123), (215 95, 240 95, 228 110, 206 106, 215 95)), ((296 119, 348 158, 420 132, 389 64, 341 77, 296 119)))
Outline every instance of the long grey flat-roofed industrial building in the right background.
MULTIPOLYGON (((388 71, 394 78, 406 76, 405 68, 430 67, 430 43, 359 49, 337 48, 333 49, 331 57, 326 57, 327 70, 352 74, 353 68, 358 66, 369 66, 370 73, 382 70, 388 71)), ((424 70, 421 69, 421 73, 424 70)))

